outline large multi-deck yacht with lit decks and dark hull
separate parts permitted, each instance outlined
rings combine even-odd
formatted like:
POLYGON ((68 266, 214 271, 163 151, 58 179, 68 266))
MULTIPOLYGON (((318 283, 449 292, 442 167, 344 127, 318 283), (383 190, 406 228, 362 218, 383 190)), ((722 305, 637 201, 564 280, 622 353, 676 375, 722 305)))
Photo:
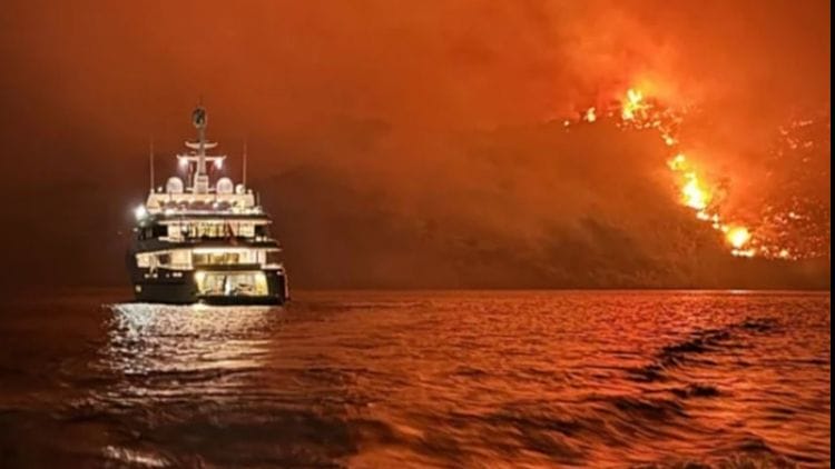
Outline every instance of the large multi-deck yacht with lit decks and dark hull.
POLYGON ((177 154, 179 176, 151 188, 135 209, 127 263, 136 299, 161 303, 282 305, 289 299, 272 220, 242 182, 224 174, 225 156, 208 154, 207 113, 191 113, 197 140, 177 154), (213 180, 214 179, 214 180, 213 180))

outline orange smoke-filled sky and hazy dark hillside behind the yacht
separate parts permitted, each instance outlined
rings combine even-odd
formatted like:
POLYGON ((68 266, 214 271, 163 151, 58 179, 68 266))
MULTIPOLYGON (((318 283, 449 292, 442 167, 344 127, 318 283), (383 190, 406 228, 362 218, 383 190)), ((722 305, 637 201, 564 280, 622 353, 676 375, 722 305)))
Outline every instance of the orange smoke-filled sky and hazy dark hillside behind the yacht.
POLYGON ((826 1, 7 1, 6 283, 126 283, 148 141, 161 183, 202 99, 297 286, 828 286, 730 258, 657 138, 561 122, 632 86, 696 107, 744 206, 776 129, 828 119, 829 34, 826 1))

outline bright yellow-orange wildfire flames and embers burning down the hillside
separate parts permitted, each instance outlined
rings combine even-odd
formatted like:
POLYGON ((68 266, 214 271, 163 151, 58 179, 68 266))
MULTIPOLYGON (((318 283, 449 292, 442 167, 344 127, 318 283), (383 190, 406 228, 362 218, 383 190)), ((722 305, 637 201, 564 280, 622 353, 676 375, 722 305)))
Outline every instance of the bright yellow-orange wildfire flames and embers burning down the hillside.
POLYGON ((776 187, 792 188, 792 193, 779 197, 766 197, 765 193, 752 196, 754 202, 763 208, 754 227, 738 219, 727 220, 721 207, 721 184, 682 151, 686 146, 679 140, 678 129, 687 112, 687 109, 665 106, 632 88, 610 106, 590 107, 577 118, 563 120, 562 123, 568 131, 580 121, 593 124, 606 119, 622 130, 652 129, 657 132, 669 148, 667 168, 675 181, 679 203, 692 210, 696 219, 709 223, 721 233, 733 256, 786 260, 828 256, 828 202, 809 196, 808 190, 804 189, 817 183, 817 179, 809 178, 829 172, 828 111, 823 117, 797 119, 779 129, 779 140, 772 150, 774 161, 769 164, 789 170, 772 170, 769 174, 774 176, 769 178, 780 182, 776 187), (788 158, 792 160, 788 161, 788 158), (778 166, 780 161, 783 163, 778 166))

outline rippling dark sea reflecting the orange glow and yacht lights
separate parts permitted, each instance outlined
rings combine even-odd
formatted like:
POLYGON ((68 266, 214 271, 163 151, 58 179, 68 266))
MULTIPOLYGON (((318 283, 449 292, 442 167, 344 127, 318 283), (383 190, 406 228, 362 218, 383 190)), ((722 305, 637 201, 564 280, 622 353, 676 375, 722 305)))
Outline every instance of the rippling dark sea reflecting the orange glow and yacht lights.
POLYGON ((828 467, 829 295, 36 299, 1 467, 828 467))

